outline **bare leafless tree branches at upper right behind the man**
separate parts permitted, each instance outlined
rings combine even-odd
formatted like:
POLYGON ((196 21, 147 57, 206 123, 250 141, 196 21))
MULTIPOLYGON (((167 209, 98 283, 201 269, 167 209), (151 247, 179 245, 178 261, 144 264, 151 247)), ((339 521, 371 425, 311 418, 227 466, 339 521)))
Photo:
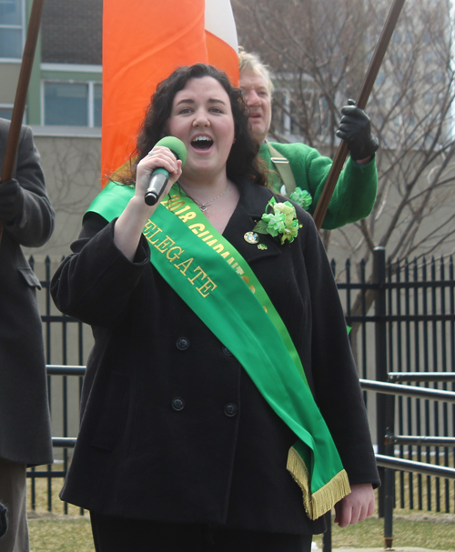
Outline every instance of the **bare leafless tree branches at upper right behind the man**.
MULTIPOLYGON (((286 91, 277 94, 273 135, 333 155, 340 107, 357 95, 389 2, 233 0, 233 7, 240 43, 286 91)), ((394 269, 409 255, 444 253, 455 238, 454 31, 450 0, 406 3, 370 97, 377 201, 368 219, 330 233, 331 246, 342 246, 369 281, 376 245, 388 247, 394 269)), ((352 314, 368 312, 372 301, 369 292, 358 296, 352 314)))

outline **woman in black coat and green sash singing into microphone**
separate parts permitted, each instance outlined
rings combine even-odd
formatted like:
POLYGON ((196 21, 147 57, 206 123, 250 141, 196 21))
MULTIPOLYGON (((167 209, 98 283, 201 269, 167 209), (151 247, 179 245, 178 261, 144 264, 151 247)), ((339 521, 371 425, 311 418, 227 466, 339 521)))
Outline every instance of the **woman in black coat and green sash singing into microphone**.
POLYGON ((331 506, 342 527, 372 513, 337 287, 311 216, 265 186, 257 153, 227 76, 177 69, 53 277, 56 306, 96 339, 60 496, 90 510, 97 552, 302 552, 331 506), (169 182, 147 206, 157 168, 169 182))

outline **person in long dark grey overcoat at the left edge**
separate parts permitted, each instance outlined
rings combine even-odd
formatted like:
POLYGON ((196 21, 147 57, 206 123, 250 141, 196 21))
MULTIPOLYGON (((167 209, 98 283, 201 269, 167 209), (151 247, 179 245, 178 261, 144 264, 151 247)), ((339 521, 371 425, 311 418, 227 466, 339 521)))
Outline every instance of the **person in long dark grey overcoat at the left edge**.
MULTIPOLYGON (((9 121, 0 119, 0 159, 9 121)), ((0 502, 8 508, 3 552, 29 549, 25 468, 52 462, 39 280, 21 246, 43 246, 54 229, 30 128, 21 129, 13 178, 0 184, 0 502)))

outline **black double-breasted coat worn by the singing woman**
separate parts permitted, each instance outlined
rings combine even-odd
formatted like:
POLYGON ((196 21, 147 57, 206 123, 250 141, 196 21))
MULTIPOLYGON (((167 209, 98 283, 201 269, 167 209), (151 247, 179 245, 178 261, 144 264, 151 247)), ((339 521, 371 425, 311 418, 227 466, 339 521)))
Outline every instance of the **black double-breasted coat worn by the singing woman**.
MULTIPOLYGON (((224 236, 277 307, 351 483, 378 483, 358 376, 327 256, 308 214, 289 246, 246 232, 272 193, 248 181, 224 236)), ((82 423, 61 497, 106 515, 317 533, 286 470, 296 438, 237 359, 149 262, 86 217, 52 282, 56 306, 94 326, 82 423)), ((220 313, 222 316, 222 313, 220 313)), ((260 328, 258 328, 260 331, 260 328)))

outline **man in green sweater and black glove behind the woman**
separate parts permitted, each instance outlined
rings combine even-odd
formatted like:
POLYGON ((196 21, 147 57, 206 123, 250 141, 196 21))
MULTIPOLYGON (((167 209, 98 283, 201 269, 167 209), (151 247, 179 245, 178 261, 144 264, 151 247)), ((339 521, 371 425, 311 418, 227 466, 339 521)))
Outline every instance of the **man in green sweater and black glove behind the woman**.
MULTIPOLYGON (((269 173, 269 186, 289 196, 312 215, 329 175, 332 160, 301 143, 279 144, 266 140, 270 127, 273 85, 268 68, 258 55, 239 54, 240 88, 250 108, 251 133, 260 144, 259 156, 269 173), (296 189, 294 191, 294 189, 296 189)), ((349 101, 341 110, 337 135, 346 140, 349 159, 341 171, 322 227, 328 230, 369 216, 378 188, 374 160, 378 141, 371 134, 366 113, 349 101)))

